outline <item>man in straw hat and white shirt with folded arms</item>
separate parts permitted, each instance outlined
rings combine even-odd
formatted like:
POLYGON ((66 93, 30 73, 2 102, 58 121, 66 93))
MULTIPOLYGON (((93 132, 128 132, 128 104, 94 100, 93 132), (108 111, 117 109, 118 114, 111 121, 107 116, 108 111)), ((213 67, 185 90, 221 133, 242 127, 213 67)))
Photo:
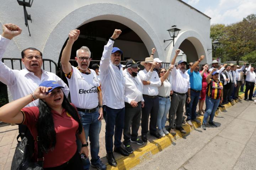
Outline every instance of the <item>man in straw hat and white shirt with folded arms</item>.
POLYGON ((156 138, 161 138, 156 129, 156 122, 159 109, 159 97, 158 97, 158 87, 161 86, 161 80, 159 79, 158 73, 153 69, 156 66, 156 62, 152 57, 146 57, 145 61, 140 62, 145 69, 139 71, 140 80, 143 83, 143 98, 145 101, 145 106, 142 108, 142 140, 147 142, 148 133, 148 123, 150 135, 156 138))

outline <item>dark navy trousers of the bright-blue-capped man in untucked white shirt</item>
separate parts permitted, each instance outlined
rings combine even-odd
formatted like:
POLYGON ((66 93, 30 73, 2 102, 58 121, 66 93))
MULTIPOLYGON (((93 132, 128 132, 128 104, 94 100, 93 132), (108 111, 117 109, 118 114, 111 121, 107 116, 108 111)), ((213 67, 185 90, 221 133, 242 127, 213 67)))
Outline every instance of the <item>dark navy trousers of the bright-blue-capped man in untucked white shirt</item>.
POLYGON ((121 138, 124 127, 125 108, 112 109, 104 106, 104 119, 106 121, 105 143, 107 153, 113 152, 113 136, 114 146, 121 146, 121 138))

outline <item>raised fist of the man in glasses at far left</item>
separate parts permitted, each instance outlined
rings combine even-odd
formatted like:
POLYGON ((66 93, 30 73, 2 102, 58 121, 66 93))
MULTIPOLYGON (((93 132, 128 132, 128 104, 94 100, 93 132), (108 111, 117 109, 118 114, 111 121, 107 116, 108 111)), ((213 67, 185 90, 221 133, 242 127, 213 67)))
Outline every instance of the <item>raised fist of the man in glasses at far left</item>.
POLYGON ((2 37, 10 40, 15 36, 20 35, 22 32, 22 29, 20 27, 12 23, 4 24, 2 26, 2 30, 3 30, 2 37))

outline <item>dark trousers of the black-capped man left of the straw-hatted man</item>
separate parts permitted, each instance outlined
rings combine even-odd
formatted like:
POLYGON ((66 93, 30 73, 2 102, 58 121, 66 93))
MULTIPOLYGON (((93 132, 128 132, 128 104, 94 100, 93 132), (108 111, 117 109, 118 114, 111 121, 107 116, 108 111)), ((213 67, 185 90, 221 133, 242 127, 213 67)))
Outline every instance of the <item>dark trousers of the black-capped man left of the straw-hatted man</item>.
POLYGON ((130 139, 136 141, 138 138, 138 130, 140 126, 140 118, 142 115, 141 102, 138 102, 137 107, 132 107, 129 103, 125 103, 125 115, 124 115, 124 145, 130 145, 130 139), (132 125, 132 134, 131 134, 132 125))

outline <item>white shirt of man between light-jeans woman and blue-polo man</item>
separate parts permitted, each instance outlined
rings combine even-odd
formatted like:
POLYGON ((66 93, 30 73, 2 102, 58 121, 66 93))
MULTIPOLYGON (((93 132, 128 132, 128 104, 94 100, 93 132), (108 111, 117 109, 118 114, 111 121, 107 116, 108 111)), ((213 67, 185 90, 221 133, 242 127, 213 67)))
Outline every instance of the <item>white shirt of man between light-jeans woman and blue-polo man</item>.
POLYGON ((171 70, 172 90, 178 93, 186 93, 190 89, 190 78, 186 72, 182 72, 179 68, 171 70))

